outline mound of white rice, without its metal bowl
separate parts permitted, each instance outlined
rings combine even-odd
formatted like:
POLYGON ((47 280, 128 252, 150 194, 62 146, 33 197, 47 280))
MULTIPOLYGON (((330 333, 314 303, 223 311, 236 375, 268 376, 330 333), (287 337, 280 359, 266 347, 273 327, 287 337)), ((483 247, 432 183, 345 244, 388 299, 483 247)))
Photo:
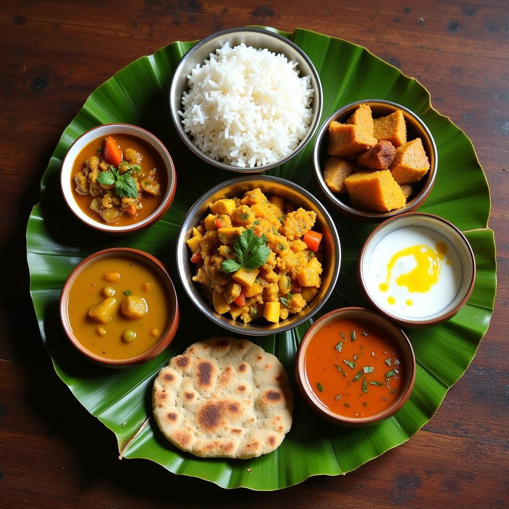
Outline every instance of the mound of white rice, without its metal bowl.
POLYGON ((187 76, 184 131, 213 159, 263 166, 287 157, 309 129, 314 89, 282 53, 227 42, 187 76))

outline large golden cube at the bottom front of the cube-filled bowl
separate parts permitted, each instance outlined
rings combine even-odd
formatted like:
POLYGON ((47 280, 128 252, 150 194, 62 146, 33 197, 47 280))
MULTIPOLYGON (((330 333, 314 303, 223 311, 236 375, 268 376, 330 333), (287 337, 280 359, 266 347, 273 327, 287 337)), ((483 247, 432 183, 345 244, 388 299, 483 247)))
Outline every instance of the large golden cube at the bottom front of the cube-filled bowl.
POLYGON ((401 187, 388 169, 365 170, 345 180, 353 207, 374 212, 399 209, 406 203, 401 187))

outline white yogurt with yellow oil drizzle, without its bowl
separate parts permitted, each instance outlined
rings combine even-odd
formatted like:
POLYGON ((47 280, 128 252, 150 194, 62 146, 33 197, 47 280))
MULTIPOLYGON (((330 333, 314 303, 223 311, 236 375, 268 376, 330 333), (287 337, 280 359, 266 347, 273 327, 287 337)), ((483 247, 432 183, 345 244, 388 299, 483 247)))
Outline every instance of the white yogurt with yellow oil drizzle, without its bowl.
POLYGON ((425 318, 453 302, 462 282, 462 265, 443 235, 405 227, 388 233, 375 246, 364 281, 372 299, 391 315, 425 318))

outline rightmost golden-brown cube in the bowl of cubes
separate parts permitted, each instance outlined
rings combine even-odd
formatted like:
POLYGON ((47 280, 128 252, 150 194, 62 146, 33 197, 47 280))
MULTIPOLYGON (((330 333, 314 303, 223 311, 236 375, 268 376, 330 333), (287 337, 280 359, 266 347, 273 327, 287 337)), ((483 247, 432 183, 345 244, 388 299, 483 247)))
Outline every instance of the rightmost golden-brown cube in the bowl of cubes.
POLYGON ((430 169, 430 161, 420 138, 396 149, 390 172, 398 184, 418 182, 430 169))

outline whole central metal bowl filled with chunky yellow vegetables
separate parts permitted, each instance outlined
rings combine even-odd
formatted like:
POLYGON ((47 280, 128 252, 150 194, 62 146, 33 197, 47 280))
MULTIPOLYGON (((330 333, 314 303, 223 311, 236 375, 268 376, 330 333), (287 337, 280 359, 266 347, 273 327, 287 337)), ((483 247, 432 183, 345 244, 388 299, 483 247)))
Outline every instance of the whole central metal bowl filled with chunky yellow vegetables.
POLYGON ((183 286, 212 321, 263 335, 315 314, 337 280, 334 224, 315 197, 268 176, 220 184, 187 214, 177 242, 183 286))

